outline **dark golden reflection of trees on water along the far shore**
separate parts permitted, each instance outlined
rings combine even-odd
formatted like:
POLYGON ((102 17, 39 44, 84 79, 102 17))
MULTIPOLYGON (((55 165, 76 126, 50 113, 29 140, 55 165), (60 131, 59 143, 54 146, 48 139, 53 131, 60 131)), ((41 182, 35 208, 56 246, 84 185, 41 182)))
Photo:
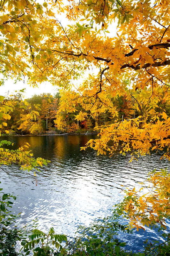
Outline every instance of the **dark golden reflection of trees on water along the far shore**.
MULTIPOLYGON (((11 141, 16 142, 12 149, 24 146, 28 142, 30 147, 27 150, 32 150, 34 157, 42 157, 48 160, 62 158, 67 161, 74 155, 77 161, 79 155, 86 153, 80 151, 80 147, 84 147, 88 140, 94 138, 96 137, 93 135, 11 136, 11 141)), ((2 137, 2 139, 6 140, 6 137, 2 137)))

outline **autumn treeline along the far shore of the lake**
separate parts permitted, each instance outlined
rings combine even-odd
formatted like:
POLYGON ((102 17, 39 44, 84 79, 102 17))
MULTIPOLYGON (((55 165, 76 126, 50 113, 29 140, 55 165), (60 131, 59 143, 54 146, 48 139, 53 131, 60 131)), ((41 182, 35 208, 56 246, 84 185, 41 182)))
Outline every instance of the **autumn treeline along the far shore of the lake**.
MULTIPOLYGON (((83 121, 75 120, 75 116, 80 111, 85 111, 80 105, 77 106, 75 112, 65 112, 60 109, 61 96, 59 92, 55 95, 50 93, 43 93, 34 95, 31 98, 22 100, 20 93, 17 93, 11 98, 5 100, 8 106, 11 106, 9 115, 11 119, 8 120, 6 130, 10 135, 20 134, 61 134, 61 133, 85 133, 94 132, 101 125, 109 125, 118 120, 132 119, 140 116, 140 113, 134 107, 135 100, 126 95, 112 100, 117 115, 112 116, 110 112, 85 117, 83 121)), ((157 108, 157 107, 156 107, 157 108)), ((165 109, 168 116, 170 116, 170 104, 166 102, 159 104, 159 109, 165 109)), ((144 109, 143 109, 144 114, 144 109)), ((148 117, 147 117, 148 118, 148 117)), ((148 122, 150 120, 148 119, 148 122)))

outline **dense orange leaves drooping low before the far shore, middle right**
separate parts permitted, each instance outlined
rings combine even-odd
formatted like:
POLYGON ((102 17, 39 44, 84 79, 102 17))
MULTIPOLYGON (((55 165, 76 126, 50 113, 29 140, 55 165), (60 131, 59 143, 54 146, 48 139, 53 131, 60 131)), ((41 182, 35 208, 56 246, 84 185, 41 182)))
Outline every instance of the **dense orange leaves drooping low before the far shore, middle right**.
MULTIPOLYGON (((162 148, 167 147, 168 151, 170 147, 169 125, 170 120, 160 122, 158 119, 156 124, 143 122, 143 129, 140 129, 141 120, 136 118, 129 121, 124 120, 121 123, 115 122, 107 127, 101 126, 99 127, 100 138, 93 141, 93 148, 95 148, 95 144, 98 144, 103 152, 109 151, 110 155, 118 150, 124 155, 134 149, 135 151, 131 153, 134 158, 137 154, 148 154, 150 150, 154 149, 162 150, 162 148), (111 141, 114 141, 113 145, 111 145, 111 141)), ((100 149, 98 149, 98 152, 100 152, 100 149)))

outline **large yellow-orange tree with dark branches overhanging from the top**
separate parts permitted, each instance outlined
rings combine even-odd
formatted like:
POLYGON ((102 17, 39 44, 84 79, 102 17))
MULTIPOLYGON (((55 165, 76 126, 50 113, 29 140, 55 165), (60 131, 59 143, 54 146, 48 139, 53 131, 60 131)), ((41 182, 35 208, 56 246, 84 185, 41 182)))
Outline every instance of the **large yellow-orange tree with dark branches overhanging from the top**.
POLYGON ((75 112, 77 104, 84 109, 78 121, 89 112, 116 117, 112 99, 126 94, 140 116, 102 126, 87 147, 110 155, 119 148, 137 155, 166 148, 162 157, 170 160, 170 117, 161 107, 170 100, 169 0, 5 0, 0 12, 5 76, 63 86, 63 110, 75 112), (65 14, 66 27, 59 21, 65 14), (73 92, 72 80, 87 70, 88 79, 73 92))

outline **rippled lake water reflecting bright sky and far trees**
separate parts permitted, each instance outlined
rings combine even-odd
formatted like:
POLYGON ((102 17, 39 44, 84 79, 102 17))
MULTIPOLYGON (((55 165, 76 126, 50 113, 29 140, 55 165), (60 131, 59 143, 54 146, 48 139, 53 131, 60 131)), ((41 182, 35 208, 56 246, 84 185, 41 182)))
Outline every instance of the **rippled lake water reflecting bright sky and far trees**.
MULTIPOLYGON (((159 160, 159 154, 129 163, 130 155, 109 158, 97 156, 91 149, 80 151, 92 138, 92 135, 12 137, 20 146, 28 142, 35 157, 51 161, 36 178, 33 172, 18 170, 15 165, 3 167, 14 176, 0 172, 4 192, 18 195, 13 210, 22 212, 19 226, 38 218, 43 231, 53 226, 58 234, 74 236, 78 225, 89 225, 94 218, 110 215, 110 209, 123 198, 121 185, 138 188, 138 182, 144 181, 148 172, 169 167, 168 161, 159 160)), ((123 239, 128 237, 129 248, 138 251, 146 238, 153 240, 156 236, 156 231, 146 227, 145 232, 135 231, 123 239)))

